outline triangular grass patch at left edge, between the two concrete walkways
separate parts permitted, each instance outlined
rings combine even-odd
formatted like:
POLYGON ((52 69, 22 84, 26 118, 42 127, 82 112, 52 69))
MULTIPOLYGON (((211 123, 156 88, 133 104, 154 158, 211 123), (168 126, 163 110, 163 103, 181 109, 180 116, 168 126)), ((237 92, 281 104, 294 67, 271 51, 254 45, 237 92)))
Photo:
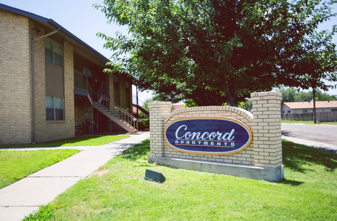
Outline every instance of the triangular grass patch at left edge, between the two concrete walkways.
POLYGON ((38 170, 62 161, 79 150, 0 150, 0 189, 38 170))

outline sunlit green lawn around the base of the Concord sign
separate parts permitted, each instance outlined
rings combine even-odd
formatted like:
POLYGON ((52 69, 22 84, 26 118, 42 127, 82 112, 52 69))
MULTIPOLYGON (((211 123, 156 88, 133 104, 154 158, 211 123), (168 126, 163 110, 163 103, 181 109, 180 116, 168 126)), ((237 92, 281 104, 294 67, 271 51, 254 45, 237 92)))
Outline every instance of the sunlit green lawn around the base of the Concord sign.
POLYGON ((149 143, 147 139, 113 158, 99 175, 80 180, 36 216, 72 221, 337 220, 336 154, 283 140, 285 180, 271 183, 149 164, 149 143), (162 172, 166 181, 144 180, 146 168, 162 172))

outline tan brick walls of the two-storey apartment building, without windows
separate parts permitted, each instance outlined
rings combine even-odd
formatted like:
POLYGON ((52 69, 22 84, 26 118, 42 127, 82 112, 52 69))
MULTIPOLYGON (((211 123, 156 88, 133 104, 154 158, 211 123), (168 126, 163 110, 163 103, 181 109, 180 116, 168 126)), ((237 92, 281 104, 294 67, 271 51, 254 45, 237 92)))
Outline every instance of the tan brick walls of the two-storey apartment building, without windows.
MULTIPOLYGON (((31 42, 33 39, 44 36, 52 31, 49 30, 48 24, 39 25, 30 19, 29 16, 26 17, 25 15, 2 9, 0 9, 0 21, 0 124, 4 125, 0 132, 0 145, 27 144, 33 142, 31 42)), ((62 45, 63 67, 49 63, 46 67, 45 37, 34 41, 34 116, 35 141, 38 143, 73 137, 75 135, 74 126, 85 121, 84 107, 75 106, 74 101, 74 59, 76 59, 74 58, 74 47, 77 46, 74 42, 67 40, 69 39, 68 37, 60 33, 55 33, 48 37, 62 45), (58 73, 60 71, 63 72, 63 83, 60 83, 60 85, 63 84, 64 87, 64 120, 60 121, 46 120, 46 70, 50 67, 58 68, 58 73)), ((79 48, 76 49, 81 50, 79 48)), ((88 54, 88 56, 95 58, 96 54, 93 52, 92 55, 88 54)), ((75 61, 77 62, 78 60, 75 61)), ((95 66, 95 69, 92 70, 93 74, 105 74, 98 71, 103 70, 105 65, 104 61, 100 60, 99 62, 101 63, 92 62, 92 65, 95 66)), ((107 81, 110 84, 110 109, 113 110, 113 74, 96 76, 99 78, 98 83, 100 81, 107 81)), ((95 79, 96 76, 93 76, 92 79, 95 79)), ((130 99, 132 103, 132 97, 126 98, 125 80, 123 77, 119 77, 119 90, 121 106, 125 108, 125 99, 130 99)), ((59 86, 57 87, 59 88, 59 86)), ((130 89, 130 91, 132 90, 130 89)), ((108 118, 107 120, 109 121, 108 118)), ((102 125, 104 125, 104 122, 102 122, 102 125)))

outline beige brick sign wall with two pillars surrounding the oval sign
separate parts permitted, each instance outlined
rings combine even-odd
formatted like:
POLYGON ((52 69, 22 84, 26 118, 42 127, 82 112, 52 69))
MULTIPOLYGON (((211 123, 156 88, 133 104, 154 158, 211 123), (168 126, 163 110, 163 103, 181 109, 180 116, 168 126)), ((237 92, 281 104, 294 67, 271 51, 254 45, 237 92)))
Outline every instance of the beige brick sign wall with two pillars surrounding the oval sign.
POLYGON ((277 168, 282 165, 282 140, 279 92, 252 93, 253 115, 228 106, 183 108, 170 113, 171 102, 150 102, 150 155, 277 168), (165 117, 166 116, 166 117, 165 117), (164 128, 183 117, 223 116, 240 120, 253 132, 252 143, 231 155, 205 155, 177 151, 164 141, 164 128))

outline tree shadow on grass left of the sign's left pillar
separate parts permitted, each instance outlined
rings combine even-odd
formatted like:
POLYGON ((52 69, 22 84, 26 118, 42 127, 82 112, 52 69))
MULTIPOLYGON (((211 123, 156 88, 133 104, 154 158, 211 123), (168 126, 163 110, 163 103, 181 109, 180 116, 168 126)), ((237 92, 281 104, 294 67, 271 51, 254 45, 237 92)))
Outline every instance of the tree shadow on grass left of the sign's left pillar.
POLYGON ((150 139, 145 139, 139 144, 130 147, 123 151, 121 157, 127 160, 138 160, 142 157, 147 157, 150 154, 150 139))

